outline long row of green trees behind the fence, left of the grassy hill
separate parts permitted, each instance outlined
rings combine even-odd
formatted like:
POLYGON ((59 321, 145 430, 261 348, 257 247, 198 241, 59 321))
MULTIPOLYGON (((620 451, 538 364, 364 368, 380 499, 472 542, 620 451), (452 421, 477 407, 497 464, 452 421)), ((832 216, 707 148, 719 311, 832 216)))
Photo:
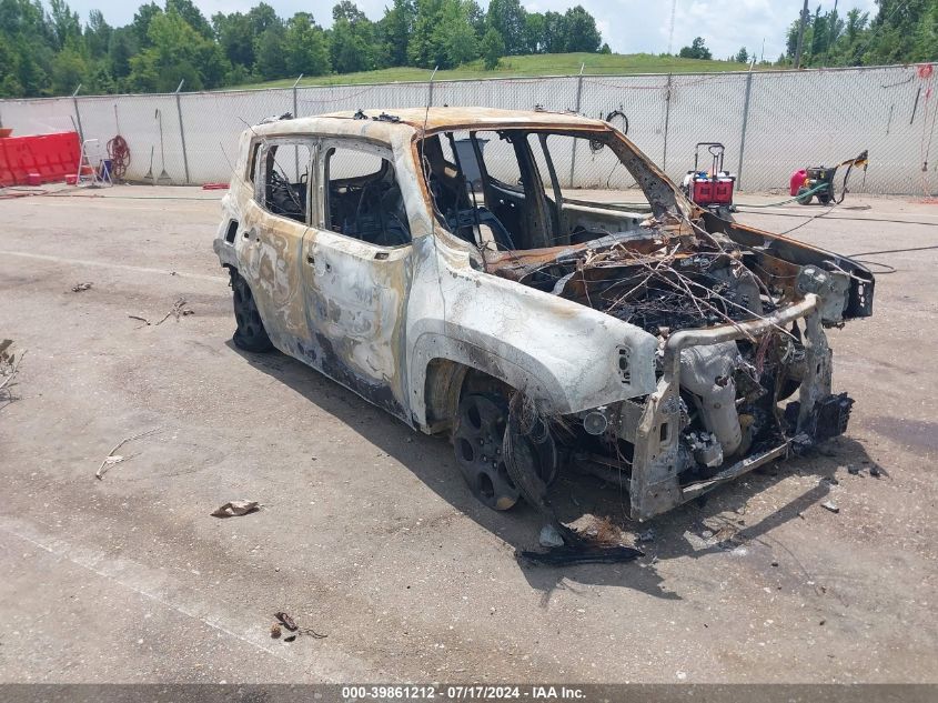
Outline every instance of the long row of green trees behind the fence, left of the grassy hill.
POLYGON ((505 56, 608 52, 583 7, 528 12, 520 0, 392 0, 370 20, 351 0, 324 29, 309 12, 281 18, 261 2, 211 17, 192 0, 142 4, 125 27, 99 10, 82 23, 65 0, 0 0, 0 96, 168 92, 391 67, 454 68, 505 56))

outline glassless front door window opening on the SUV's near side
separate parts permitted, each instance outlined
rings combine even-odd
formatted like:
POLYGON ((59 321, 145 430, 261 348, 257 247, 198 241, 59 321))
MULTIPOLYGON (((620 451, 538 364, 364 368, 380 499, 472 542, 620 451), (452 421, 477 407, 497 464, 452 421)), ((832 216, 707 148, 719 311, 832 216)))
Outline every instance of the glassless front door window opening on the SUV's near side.
POLYGON ((411 241, 394 164, 369 149, 332 147, 325 155, 325 227, 379 247, 411 241))

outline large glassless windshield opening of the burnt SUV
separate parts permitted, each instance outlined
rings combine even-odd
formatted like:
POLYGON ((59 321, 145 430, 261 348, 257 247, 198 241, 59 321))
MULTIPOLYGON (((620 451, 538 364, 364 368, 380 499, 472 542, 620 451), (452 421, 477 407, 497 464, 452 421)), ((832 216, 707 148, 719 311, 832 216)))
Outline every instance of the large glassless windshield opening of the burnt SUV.
POLYGON ((454 131, 426 138, 421 149, 437 217, 480 249, 622 237, 654 210, 634 154, 605 131, 454 131))

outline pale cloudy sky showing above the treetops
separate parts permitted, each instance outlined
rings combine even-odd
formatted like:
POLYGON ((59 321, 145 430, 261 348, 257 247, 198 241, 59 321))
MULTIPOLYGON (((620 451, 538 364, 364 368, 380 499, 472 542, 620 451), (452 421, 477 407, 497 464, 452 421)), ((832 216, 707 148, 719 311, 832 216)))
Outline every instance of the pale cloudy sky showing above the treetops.
MULTIPOLYGON (((160 1, 160 0, 158 0, 160 1)), ((104 13, 109 24, 122 26, 133 20, 133 13, 142 0, 69 0, 83 21, 89 10, 104 13)), ((205 17, 215 12, 246 11, 258 0, 194 0, 205 17)), ((320 24, 332 22, 334 0, 268 0, 281 17, 294 12, 312 12, 320 24)), ((834 0, 818 2, 810 0, 808 7, 817 4, 823 10, 834 8, 834 0)), ((48 4, 48 2, 47 2, 48 4)), ((357 0, 356 4, 371 19, 377 20, 384 13, 390 0, 357 0)), ((480 4, 486 7, 487 0, 480 4)), ((554 10, 563 12, 574 4, 582 4, 596 18, 603 40, 616 53, 662 53, 668 48, 670 23, 669 0, 522 0, 522 4, 536 12, 554 10)), ((837 8, 841 16, 851 8, 876 14, 875 0, 839 0, 837 8)), ((800 0, 677 0, 674 23, 673 51, 687 46, 694 37, 703 37, 714 58, 725 59, 735 54, 740 47, 749 53, 763 52, 775 60, 785 50, 785 31, 801 9, 800 0)))

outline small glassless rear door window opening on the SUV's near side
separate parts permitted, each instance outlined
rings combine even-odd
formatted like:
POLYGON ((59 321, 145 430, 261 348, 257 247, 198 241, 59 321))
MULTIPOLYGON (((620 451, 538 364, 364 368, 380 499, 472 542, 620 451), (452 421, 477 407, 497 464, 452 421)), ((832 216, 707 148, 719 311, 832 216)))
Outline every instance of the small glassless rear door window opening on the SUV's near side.
POLYGON ((269 144, 264 151, 263 207, 268 212, 307 222, 310 144, 269 144))

